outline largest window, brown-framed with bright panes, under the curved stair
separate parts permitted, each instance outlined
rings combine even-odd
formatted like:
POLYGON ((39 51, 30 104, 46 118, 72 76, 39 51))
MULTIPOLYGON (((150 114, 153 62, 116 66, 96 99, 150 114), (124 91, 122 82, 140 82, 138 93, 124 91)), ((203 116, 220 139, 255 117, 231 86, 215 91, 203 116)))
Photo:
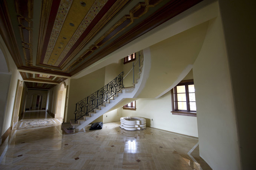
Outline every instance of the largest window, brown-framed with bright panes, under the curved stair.
POLYGON ((193 80, 181 81, 172 90, 173 114, 196 116, 196 97, 193 80))

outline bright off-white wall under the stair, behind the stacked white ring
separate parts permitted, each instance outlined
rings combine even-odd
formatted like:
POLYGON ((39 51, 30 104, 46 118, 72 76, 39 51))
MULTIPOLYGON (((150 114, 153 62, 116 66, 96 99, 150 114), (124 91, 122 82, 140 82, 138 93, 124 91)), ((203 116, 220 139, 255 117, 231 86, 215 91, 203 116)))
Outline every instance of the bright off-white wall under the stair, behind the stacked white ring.
POLYGON ((172 114, 171 103, 171 92, 169 91, 158 99, 136 100, 136 110, 120 109, 122 117, 143 117, 146 119, 147 126, 198 137, 197 118, 172 114))

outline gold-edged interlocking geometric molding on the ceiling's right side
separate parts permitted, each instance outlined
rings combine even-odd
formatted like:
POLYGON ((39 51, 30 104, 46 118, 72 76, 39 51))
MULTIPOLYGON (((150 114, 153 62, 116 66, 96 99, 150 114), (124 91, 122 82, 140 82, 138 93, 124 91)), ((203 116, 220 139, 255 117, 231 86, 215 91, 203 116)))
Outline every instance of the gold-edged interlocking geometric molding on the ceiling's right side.
POLYGON ((119 21, 117 21, 116 24, 114 24, 114 26, 112 26, 108 31, 106 31, 106 33, 104 33, 98 40, 96 40, 95 43, 89 47, 89 49, 85 50, 83 54, 78 57, 78 59, 73 61, 73 63, 65 69, 65 72, 69 72, 74 69, 77 64, 91 55, 94 51, 98 50, 99 47, 103 46, 106 42, 130 26, 134 22, 134 19, 139 19, 141 16, 148 12, 150 7, 156 6, 161 1, 162 0, 157 0, 154 3, 150 3, 150 0, 145 0, 145 2, 138 3, 129 11, 129 15, 125 15, 119 21))

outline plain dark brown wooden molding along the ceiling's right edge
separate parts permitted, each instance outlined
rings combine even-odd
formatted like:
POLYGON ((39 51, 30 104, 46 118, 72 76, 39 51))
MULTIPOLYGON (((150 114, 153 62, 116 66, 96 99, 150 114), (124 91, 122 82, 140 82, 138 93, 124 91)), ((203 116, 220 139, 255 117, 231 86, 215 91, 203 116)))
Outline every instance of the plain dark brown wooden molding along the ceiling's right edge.
MULTIPOLYGON (((72 76, 79 71, 82 71, 96 61, 104 58, 105 56, 114 52, 125 44, 128 44, 129 42, 137 39, 141 35, 163 24, 165 21, 170 20, 171 18, 177 16, 178 14, 198 4, 201 1, 202 0, 172 0, 168 2, 163 7, 147 17, 147 19, 143 20, 141 23, 137 24, 135 27, 125 32, 122 36, 118 37, 118 39, 114 40, 112 43, 108 44, 108 46, 101 49, 101 51, 88 59, 85 63, 81 64, 78 68, 71 71, 70 75, 72 76)), ((94 44, 91 47, 93 46, 94 44)), ((93 51, 95 50, 88 49, 79 58, 89 56, 89 54, 91 54, 93 51), (86 52, 88 53, 86 54, 86 52)), ((69 70, 73 69, 79 63, 79 58, 68 67, 69 70)))

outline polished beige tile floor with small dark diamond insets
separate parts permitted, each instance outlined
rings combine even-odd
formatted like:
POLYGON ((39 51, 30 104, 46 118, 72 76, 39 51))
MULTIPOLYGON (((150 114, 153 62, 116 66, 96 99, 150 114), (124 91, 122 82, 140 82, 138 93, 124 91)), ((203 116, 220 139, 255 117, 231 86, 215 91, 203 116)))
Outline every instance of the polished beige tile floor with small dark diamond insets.
POLYGON ((92 131, 87 126, 69 135, 60 125, 16 130, 0 147, 0 169, 210 169, 199 156, 198 139, 119 125, 92 131))

